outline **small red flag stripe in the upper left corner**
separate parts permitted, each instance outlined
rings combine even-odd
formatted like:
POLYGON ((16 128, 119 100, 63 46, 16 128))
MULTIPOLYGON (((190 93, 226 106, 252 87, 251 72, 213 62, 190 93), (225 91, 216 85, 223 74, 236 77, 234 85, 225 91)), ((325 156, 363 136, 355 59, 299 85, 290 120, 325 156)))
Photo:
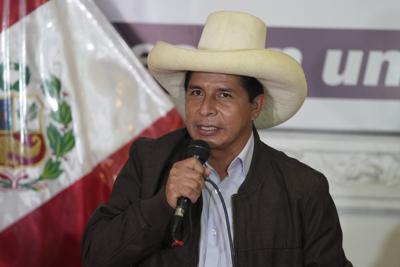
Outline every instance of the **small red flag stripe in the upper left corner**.
POLYGON ((0 0, 0 32, 47 1, 48 0, 0 0))

